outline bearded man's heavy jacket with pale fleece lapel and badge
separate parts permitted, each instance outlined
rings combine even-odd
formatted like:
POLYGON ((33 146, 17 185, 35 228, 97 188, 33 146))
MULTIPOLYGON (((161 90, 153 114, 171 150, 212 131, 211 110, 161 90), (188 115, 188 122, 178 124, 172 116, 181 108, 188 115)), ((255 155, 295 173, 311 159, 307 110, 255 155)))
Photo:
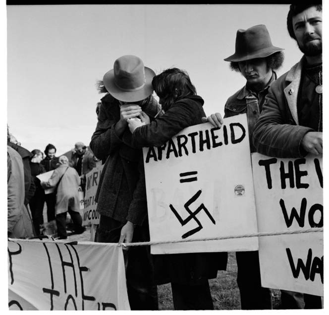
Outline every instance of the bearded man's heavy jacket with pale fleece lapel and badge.
POLYGON ((277 158, 307 154, 300 144, 305 133, 315 130, 298 123, 297 96, 304 63, 305 57, 271 85, 253 133, 257 152, 277 158))

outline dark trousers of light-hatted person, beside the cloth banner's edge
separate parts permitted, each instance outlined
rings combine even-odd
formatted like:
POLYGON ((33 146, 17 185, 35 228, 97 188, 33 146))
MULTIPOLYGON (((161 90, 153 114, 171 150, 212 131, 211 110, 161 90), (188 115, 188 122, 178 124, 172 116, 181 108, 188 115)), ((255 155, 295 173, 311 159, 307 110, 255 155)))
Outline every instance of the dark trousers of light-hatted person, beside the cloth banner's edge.
MULTIPOLYGON (((124 223, 101 215, 95 242, 118 243, 124 223)), ((143 225, 134 228, 132 242, 150 240, 147 219, 143 225)), ((152 281, 153 263, 149 246, 130 247, 123 251, 126 267, 126 283, 130 309, 133 311, 157 311, 158 287, 152 281)))

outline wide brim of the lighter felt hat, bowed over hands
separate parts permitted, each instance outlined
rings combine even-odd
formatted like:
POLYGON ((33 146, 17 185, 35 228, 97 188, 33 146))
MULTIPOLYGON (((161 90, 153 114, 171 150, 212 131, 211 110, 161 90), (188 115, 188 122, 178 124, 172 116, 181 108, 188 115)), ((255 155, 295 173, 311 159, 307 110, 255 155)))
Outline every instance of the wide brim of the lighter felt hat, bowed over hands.
POLYGON ((117 100, 122 102, 138 102, 149 97, 153 93, 152 79, 156 75, 155 72, 148 68, 144 67, 145 73, 145 85, 137 91, 122 91, 114 83, 114 69, 111 69, 105 73, 103 82, 105 88, 108 92, 117 100))

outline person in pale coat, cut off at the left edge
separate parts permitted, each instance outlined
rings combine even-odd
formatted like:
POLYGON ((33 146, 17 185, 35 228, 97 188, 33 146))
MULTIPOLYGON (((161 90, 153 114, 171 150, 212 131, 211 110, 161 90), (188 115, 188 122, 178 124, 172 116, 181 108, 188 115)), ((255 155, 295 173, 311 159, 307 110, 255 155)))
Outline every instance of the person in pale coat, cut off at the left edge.
POLYGON ((7 145, 7 236, 12 239, 34 236, 24 196, 23 161, 19 153, 7 145))

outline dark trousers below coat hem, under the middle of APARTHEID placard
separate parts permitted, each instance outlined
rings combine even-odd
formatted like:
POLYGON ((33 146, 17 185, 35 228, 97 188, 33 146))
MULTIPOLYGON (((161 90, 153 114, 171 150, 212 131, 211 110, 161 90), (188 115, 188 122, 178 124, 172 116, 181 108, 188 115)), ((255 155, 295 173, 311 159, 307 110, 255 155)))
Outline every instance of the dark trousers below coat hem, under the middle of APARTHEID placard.
POLYGON ((171 291, 175 311, 214 310, 208 281, 195 286, 171 282, 171 291))

